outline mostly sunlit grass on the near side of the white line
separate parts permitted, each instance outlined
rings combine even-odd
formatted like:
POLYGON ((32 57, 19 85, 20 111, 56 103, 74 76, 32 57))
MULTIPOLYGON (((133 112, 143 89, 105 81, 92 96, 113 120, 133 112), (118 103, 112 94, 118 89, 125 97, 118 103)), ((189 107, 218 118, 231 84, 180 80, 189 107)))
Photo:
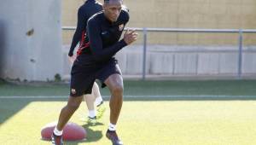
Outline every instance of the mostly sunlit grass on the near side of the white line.
MULTIPOLYGON (((63 100, 1 99, 0 143, 50 144, 41 128, 55 121, 63 100), (48 101, 47 101, 48 100, 48 101), (10 115, 10 114, 11 115, 10 115)), ((108 108, 108 102, 105 104, 108 108)), ((105 137, 109 110, 95 126, 83 119, 83 102, 71 119, 84 126, 87 140, 67 144, 111 144, 105 137)), ((256 143, 256 101, 125 101, 118 132, 128 145, 253 145, 256 143)))

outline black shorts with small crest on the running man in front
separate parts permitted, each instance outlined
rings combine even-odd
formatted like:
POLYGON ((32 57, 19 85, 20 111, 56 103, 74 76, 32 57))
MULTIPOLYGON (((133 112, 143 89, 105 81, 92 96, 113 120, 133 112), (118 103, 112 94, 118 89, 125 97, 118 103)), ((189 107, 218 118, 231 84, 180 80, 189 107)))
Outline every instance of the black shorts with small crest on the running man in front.
POLYGON ((99 79, 104 87, 105 80, 115 73, 122 75, 118 61, 114 58, 103 65, 81 65, 79 61, 75 61, 71 71, 70 96, 91 94, 96 79, 99 79))

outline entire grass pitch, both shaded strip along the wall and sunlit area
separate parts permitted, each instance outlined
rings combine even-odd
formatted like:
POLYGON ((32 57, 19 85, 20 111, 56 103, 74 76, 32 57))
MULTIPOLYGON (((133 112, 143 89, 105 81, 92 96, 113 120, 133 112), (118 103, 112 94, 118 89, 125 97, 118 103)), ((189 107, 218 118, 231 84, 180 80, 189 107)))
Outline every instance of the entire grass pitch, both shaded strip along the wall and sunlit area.
MULTIPOLYGON (((256 81, 125 81, 118 133, 125 145, 254 145, 256 81)), ((0 144, 47 145, 40 131, 58 119, 68 85, 15 85, 0 82, 0 144), (61 96, 61 97, 56 97, 61 96)), ((102 90, 108 96, 108 90, 102 90)), ((83 102, 72 122, 87 140, 71 145, 110 145, 107 111, 96 126, 82 121, 83 102)))

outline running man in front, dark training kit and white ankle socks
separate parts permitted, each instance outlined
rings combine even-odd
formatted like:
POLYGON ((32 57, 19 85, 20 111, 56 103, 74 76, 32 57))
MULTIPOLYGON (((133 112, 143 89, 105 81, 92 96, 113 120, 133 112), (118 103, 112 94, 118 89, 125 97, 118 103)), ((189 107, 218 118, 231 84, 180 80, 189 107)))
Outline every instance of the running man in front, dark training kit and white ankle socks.
POLYGON ((123 78, 118 61, 113 57, 120 49, 137 40, 135 31, 126 31, 119 40, 129 14, 122 9, 122 0, 104 0, 103 11, 88 20, 85 48, 73 63, 70 97, 61 109, 58 124, 52 134, 52 142, 62 144, 62 130, 77 110, 84 94, 90 94, 97 79, 108 86, 111 97, 110 124, 106 136, 114 145, 123 144, 116 133, 116 124, 123 103, 123 78))

